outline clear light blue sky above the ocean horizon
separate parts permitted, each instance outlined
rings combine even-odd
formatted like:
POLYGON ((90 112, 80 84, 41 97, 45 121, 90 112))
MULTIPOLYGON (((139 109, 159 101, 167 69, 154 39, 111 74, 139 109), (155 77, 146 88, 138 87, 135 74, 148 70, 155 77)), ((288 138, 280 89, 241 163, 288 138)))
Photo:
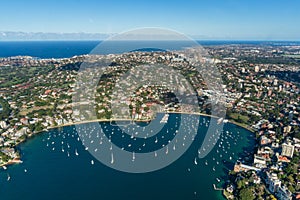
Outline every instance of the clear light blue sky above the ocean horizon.
POLYGON ((0 31, 120 33, 168 28, 196 39, 300 40, 298 0, 9 0, 0 31))

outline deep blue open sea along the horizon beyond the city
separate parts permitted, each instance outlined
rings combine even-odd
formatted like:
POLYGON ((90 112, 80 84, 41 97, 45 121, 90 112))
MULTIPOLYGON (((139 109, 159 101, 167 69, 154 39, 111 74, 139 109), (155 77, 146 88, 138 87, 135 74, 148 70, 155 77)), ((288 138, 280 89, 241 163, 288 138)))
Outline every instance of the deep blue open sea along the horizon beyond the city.
MULTIPOLYGON (((33 56, 38 58, 68 58, 90 53, 101 41, 0 41, 0 57, 33 56)), ((152 42, 153 43, 153 42, 152 42)), ((203 46, 210 45, 300 45, 300 42, 287 41, 198 41, 203 46)), ((147 42, 144 42, 147 44, 147 42)), ((128 43, 116 45, 112 52, 126 47, 128 43)), ((156 42, 152 46, 168 47, 166 50, 177 50, 184 46, 182 43, 156 42)), ((151 47, 151 46, 150 46, 151 47)), ((101 52, 107 53, 107 52, 101 52)))

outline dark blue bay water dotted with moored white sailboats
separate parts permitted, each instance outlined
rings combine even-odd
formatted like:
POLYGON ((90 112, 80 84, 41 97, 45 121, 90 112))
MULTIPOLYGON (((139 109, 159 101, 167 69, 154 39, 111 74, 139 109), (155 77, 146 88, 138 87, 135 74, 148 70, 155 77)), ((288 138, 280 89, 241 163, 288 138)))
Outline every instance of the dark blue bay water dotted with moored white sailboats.
MULTIPOLYGON (((164 124, 165 129, 162 129, 162 133, 156 134, 149 141, 144 138, 144 135, 147 135, 147 133, 150 134, 151 129, 147 129, 147 127, 140 127, 139 129, 135 124, 118 127, 110 125, 110 122, 100 122, 103 130, 107 130, 100 133, 96 131, 95 123, 89 123, 81 127, 82 130, 86 130, 83 132, 85 133, 84 137, 78 135, 75 126, 49 130, 20 145, 24 162, 20 165, 9 166, 7 170, 2 169, 0 180, 4 179, 8 184, 3 185, 0 188, 0 192, 4 199, 8 198, 8 196, 16 199, 20 197, 18 193, 12 194, 9 191, 14 190, 15 187, 20 187, 23 188, 22 191, 28 191, 23 192, 24 195, 22 196, 26 200, 34 198, 33 195, 42 195, 45 193, 48 194, 49 200, 53 198, 64 199, 65 195, 74 199, 100 197, 120 199, 124 195, 129 195, 131 199, 142 198, 147 200, 153 199, 157 195, 167 195, 168 198, 179 197, 182 199, 187 197, 192 199, 195 195, 201 195, 206 199, 224 199, 220 190, 214 189, 213 184, 215 184, 216 189, 221 188, 227 177, 223 168, 227 168, 227 164, 230 162, 233 163, 239 156, 241 157, 241 154, 244 153, 243 148, 252 144, 252 139, 247 136, 251 133, 227 123, 219 140, 216 140, 217 143, 211 153, 204 159, 200 159, 198 151, 201 141, 204 138, 203 133, 207 129, 206 124, 210 123, 210 119, 208 117, 197 116, 200 126, 197 136, 193 137, 190 131, 195 130, 196 127, 193 127, 189 123, 181 124, 184 132, 176 131, 176 127, 179 127, 179 116, 178 114, 170 114, 168 122, 164 124), (167 130, 169 135, 166 135, 167 130), (137 135, 136 132, 138 132, 137 135), (181 136, 181 140, 177 139, 174 145, 160 151, 160 148, 167 146, 169 141, 172 141, 173 137, 177 134, 181 136), (113 140, 115 145, 119 145, 124 151, 131 151, 128 157, 131 163, 139 161, 137 155, 139 152, 154 150, 152 155, 155 160, 178 151, 180 146, 188 144, 187 140, 192 140, 193 143, 189 150, 170 166, 155 172, 134 175, 111 169, 90 154, 90 152, 95 152, 96 149, 96 152, 104 152, 105 137, 112 140, 115 137, 113 140), (120 146, 121 143, 119 143, 121 139, 127 141, 127 143, 122 143, 124 144, 123 146, 120 146), (234 142, 237 145, 233 145, 234 142), (91 144, 92 146, 84 146, 83 144, 91 144), (225 153, 226 151, 227 153, 225 153), (230 161, 230 157, 232 161, 230 161), (4 171, 6 173, 3 173, 4 171), (74 177, 76 177, 76 182, 72 181, 74 177), (150 185, 151 190, 146 193, 137 192, 133 196, 130 189, 124 187, 123 183, 120 183, 120 177, 122 177, 122 180, 127 185, 134 184, 137 191, 145 187, 150 187, 150 185), (29 179, 32 184, 25 184, 29 179), (160 181, 157 182, 157 180, 160 181), (43 184, 47 184, 48 188, 43 188, 43 184), (168 185, 168 188, 172 188, 172 190, 177 188, 176 193, 172 193, 165 185, 168 185), (37 192, 31 193, 31 187, 36 188, 37 192), (64 189, 61 190, 59 188, 64 189), (99 188, 101 189, 99 190, 99 188), (109 192, 111 188, 119 192, 111 193, 109 192), (48 191, 51 191, 51 194, 48 191), (210 192, 208 193, 207 191, 210 192), (145 197, 145 194, 147 194, 147 197, 145 197)), ((190 120, 197 119, 189 115, 187 117, 190 120)), ((160 120, 155 123, 160 124, 160 120)), ((216 135, 212 135, 210 139, 214 140, 215 137, 216 135)), ((107 146, 107 148, 110 152, 108 158, 109 164, 115 165, 120 162, 115 155, 114 147, 107 146)))

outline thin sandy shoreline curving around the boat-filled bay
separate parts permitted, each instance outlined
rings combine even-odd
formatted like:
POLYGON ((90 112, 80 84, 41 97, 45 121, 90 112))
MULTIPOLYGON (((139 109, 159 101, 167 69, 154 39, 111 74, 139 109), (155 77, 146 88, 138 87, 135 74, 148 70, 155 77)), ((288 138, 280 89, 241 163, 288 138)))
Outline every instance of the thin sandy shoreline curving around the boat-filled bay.
MULTIPOLYGON (((162 112, 159 112, 159 113, 164 114, 162 112)), ((193 113, 189 113, 189 112, 165 112, 165 113, 198 115, 198 116, 210 117, 210 118, 215 118, 215 119, 219 118, 219 117, 214 116, 214 115, 209 115, 209 114, 205 114, 205 113, 198 113, 198 112, 193 112, 193 113)), ((28 139, 33 138, 34 136, 36 136, 40 133, 48 132, 49 130, 52 130, 52 129, 63 128, 63 127, 74 126, 74 125, 80 125, 80 124, 95 123, 95 122, 113 122, 113 121, 150 122, 151 120, 152 119, 139 119, 139 120, 136 120, 136 119, 126 119, 126 118, 120 118, 120 119, 95 119, 95 120, 87 120, 87 121, 78 121, 78 122, 73 122, 73 123, 67 123, 67 124, 62 124, 62 125, 58 125, 58 126, 51 126, 51 127, 47 127, 44 130, 29 134, 26 139, 16 143, 16 145, 12 148, 15 148, 15 147, 19 146, 20 144, 26 142, 28 139)), ((228 120, 228 123, 232 123, 236 126, 239 126, 241 128, 244 128, 244 129, 250 131, 251 133, 255 133, 253 129, 251 129, 250 127, 245 126, 244 124, 235 122, 233 120, 228 120)), ((9 160, 6 163, 1 164, 0 167, 6 167, 6 166, 9 166, 9 165, 13 165, 13 164, 20 164, 22 162, 23 161, 21 160, 21 156, 20 156, 18 158, 14 158, 12 160, 9 160)))

